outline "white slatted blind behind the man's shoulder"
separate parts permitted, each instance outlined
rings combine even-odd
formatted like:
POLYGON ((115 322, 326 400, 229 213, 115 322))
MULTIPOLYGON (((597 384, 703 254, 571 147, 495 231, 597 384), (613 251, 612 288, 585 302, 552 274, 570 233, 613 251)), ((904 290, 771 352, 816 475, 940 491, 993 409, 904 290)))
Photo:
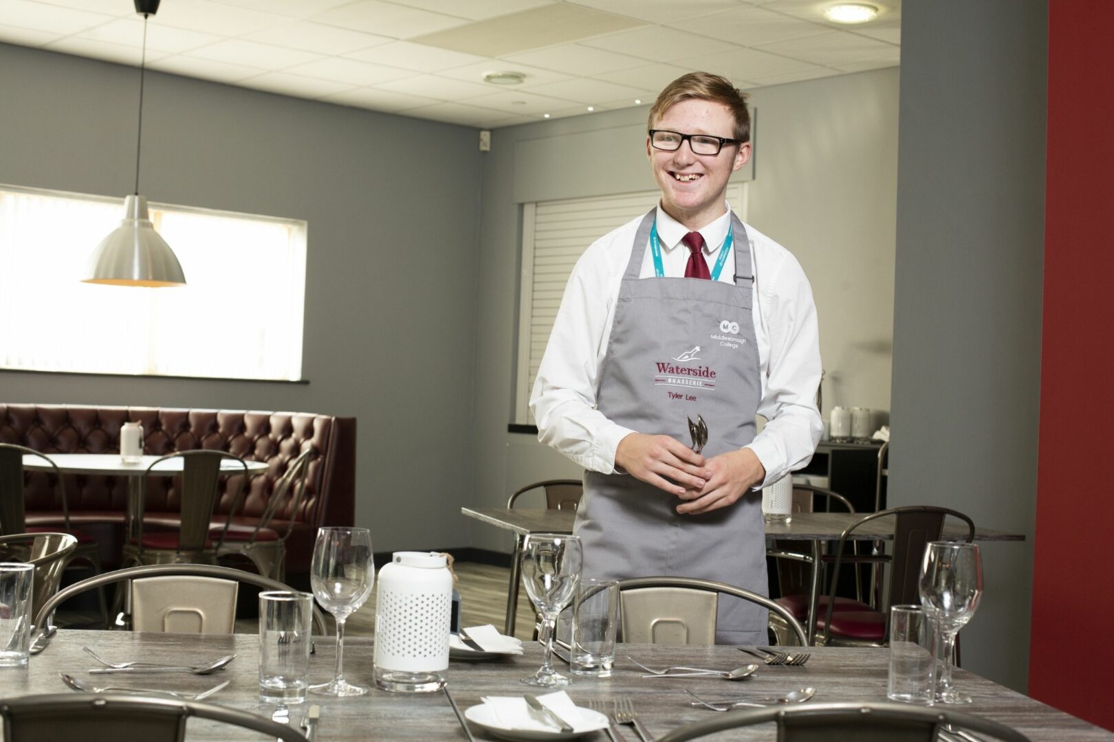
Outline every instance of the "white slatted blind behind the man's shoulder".
MULTIPOLYGON (((649 211, 661 196, 646 190, 522 205, 516 423, 534 424, 530 390, 577 259, 595 240, 649 211)), ((746 219, 745 182, 727 186, 727 202, 746 219)))

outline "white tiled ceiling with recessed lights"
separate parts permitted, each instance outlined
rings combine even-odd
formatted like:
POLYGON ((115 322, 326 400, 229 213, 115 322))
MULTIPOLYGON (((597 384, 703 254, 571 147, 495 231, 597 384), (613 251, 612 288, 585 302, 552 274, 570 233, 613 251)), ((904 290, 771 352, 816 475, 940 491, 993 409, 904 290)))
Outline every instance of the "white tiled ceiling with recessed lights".
MULTIPOLYGON (((163 0, 150 68, 495 128, 649 103, 692 70, 741 88, 892 67, 900 0, 861 26, 831 0, 163 0), (526 75, 494 86, 489 71, 526 75)), ((0 0, 0 41, 139 65, 131 0, 0 0)))

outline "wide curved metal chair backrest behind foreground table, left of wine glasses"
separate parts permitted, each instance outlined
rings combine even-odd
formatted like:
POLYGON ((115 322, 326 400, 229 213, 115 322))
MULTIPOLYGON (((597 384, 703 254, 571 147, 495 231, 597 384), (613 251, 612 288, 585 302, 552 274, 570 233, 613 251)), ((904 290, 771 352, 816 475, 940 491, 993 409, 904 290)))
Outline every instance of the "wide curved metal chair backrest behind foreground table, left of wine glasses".
MULTIPOLYGON (((232 567, 223 567, 214 564, 154 564, 154 565, 138 566, 138 567, 128 567, 127 570, 117 570, 116 572, 106 572, 105 574, 99 574, 95 577, 89 577, 88 580, 76 582, 72 585, 69 585, 68 587, 59 591, 53 597, 47 601, 42 605, 42 607, 36 612, 36 621, 38 622, 40 619, 46 619, 51 613, 53 613, 59 605, 68 601, 70 597, 86 592, 87 590, 94 590, 95 587, 100 587, 101 585, 109 585, 116 582, 121 582, 124 580, 135 580, 138 582, 146 577, 215 577, 221 581, 229 581, 234 584, 238 582, 246 582, 250 585, 255 585, 257 587, 262 587, 263 590, 293 590, 293 587, 290 587, 289 585, 285 585, 276 580, 268 580, 267 577, 262 577, 255 574, 254 572, 245 572, 243 570, 234 570, 232 567)), ((150 584, 157 587, 159 583, 150 583, 150 584)), ((184 602, 183 597, 186 594, 188 594, 188 591, 197 587, 198 583, 186 582, 179 584, 184 585, 184 587, 179 591, 180 593, 179 595, 174 596, 173 598, 174 603, 172 604, 172 606, 177 607, 179 611, 179 616, 184 617, 185 613, 182 612, 182 609, 184 606, 187 606, 188 603, 184 602)), ((154 593, 154 591, 152 592, 154 593)), ((197 592, 195 594, 199 595, 201 593, 197 592)), ((227 595, 227 592, 216 591, 215 593, 211 592, 209 594, 219 596, 222 594, 227 595)), ((207 606, 201 606, 201 609, 203 611, 214 612, 213 613, 214 616, 218 615, 217 613, 215 613, 216 611, 231 610, 232 613, 235 613, 234 604, 231 609, 228 609, 227 605, 217 606, 213 604, 207 606)), ((148 605, 145 606, 145 610, 147 611, 147 616, 152 615, 159 616, 164 613, 160 606, 149 601, 148 605)), ((329 634, 329 629, 326 627, 325 624, 324 614, 321 613, 321 610, 317 609, 316 605, 313 606, 313 623, 316 631, 321 635, 324 636, 329 634)), ((36 626, 39 625, 40 625, 39 623, 36 623, 36 626)), ((162 630, 156 627, 154 631, 162 631, 162 630)), ((41 639, 42 637, 40 636, 39 641, 37 641, 36 643, 38 643, 40 646, 45 646, 45 643, 41 641, 41 639)))

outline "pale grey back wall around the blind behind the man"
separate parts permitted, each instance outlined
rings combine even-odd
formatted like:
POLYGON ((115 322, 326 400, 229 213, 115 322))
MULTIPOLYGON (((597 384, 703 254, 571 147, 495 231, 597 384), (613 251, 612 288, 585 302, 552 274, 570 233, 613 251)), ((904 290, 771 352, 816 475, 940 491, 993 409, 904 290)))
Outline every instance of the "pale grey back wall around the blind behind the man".
MULTIPOLYGON (((759 113, 749 221, 793 251, 812 281, 829 373, 825 407, 857 404, 887 410, 898 70, 761 88, 752 102, 759 113)), ((648 107, 624 109, 492 133, 483 162, 480 235, 473 428, 476 458, 482 462, 476 469, 478 507, 501 506, 510 492, 531 481, 580 475, 534 436, 507 433, 515 394, 518 201, 527 195, 597 195, 600 179, 609 192, 654 189, 639 133, 647 112, 648 107), (568 151, 574 144, 609 156, 561 167, 575 157, 568 151), (516 152, 556 167, 521 167, 516 152)), ((508 535, 480 524, 469 527, 473 545, 509 551, 508 535)))

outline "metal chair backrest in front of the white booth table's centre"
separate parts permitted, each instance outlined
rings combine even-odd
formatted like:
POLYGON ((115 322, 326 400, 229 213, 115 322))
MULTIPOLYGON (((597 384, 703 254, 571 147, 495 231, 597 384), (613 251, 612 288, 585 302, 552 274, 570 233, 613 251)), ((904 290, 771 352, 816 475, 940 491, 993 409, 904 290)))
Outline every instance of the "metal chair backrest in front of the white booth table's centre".
MULTIPOLYGON (((244 482, 247 479, 247 464, 235 454, 224 451, 179 451, 175 454, 160 456, 152 462, 147 471, 159 465, 169 458, 180 458, 182 461, 182 514, 178 526, 178 551, 201 552, 205 548, 208 540, 209 521, 213 511, 216 509, 218 495, 217 483, 222 475, 235 476, 238 482, 233 502, 238 502, 243 492, 244 482), (238 462, 243 468, 243 475, 228 469, 222 471, 222 465, 226 459, 238 462)), ((140 536, 143 535, 143 517, 139 518, 140 536)), ((140 543, 143 538, 140 537, 140 543)), ((223 536, 222 536, 223 542, 223 536)), ((218 543, 217 546, 221 544, 218 543)))

